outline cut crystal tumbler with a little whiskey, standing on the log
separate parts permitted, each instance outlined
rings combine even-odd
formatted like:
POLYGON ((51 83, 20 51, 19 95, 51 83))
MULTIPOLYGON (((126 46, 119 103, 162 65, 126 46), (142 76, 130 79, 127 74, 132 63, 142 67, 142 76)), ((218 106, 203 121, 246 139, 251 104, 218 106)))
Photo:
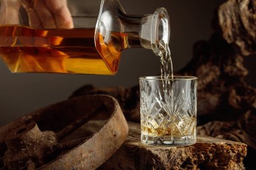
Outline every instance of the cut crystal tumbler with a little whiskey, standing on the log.
POLYGON ((141 142, 187 145, 195 143, 196 81, 174 81, 171 92, 162 82, 140 80, 141 142))

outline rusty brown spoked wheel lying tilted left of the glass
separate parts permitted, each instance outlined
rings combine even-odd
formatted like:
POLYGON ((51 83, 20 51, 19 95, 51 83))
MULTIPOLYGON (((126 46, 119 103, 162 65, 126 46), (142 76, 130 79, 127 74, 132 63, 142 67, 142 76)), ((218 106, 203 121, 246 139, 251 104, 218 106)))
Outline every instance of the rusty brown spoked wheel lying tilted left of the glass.
POLYGON ((96 169, 127 134, 127 122, 113 97, 69 99, 0 128, 0 169, 96 169), (71 135, 92 117, 104 119, 101 126, 89 134, 71 135))

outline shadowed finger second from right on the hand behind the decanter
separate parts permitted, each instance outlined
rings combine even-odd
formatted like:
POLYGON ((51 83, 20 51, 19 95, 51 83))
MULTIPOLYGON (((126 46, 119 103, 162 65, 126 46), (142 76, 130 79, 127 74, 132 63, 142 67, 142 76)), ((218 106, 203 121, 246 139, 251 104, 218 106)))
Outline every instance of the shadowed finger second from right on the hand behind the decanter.
POLYGON ((48 9, 48 7, 45 4, 45 1, 34 1, 34 9, 36 10, 36 13, 38 13, 38 17, 42 22, 43 28, 57 28, 55 24, 55 18, 53 17, 53 13, 51 13, 51 11, 48 9))

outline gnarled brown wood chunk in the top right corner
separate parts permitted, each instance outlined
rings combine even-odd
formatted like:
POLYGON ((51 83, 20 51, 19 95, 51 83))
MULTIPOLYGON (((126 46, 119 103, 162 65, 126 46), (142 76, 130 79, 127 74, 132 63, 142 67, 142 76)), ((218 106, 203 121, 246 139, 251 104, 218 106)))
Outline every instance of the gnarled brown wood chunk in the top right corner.
POLYGON ((256 1, 230 0, 218 10, 222 36, 245 56, 256 54, 256 1))

